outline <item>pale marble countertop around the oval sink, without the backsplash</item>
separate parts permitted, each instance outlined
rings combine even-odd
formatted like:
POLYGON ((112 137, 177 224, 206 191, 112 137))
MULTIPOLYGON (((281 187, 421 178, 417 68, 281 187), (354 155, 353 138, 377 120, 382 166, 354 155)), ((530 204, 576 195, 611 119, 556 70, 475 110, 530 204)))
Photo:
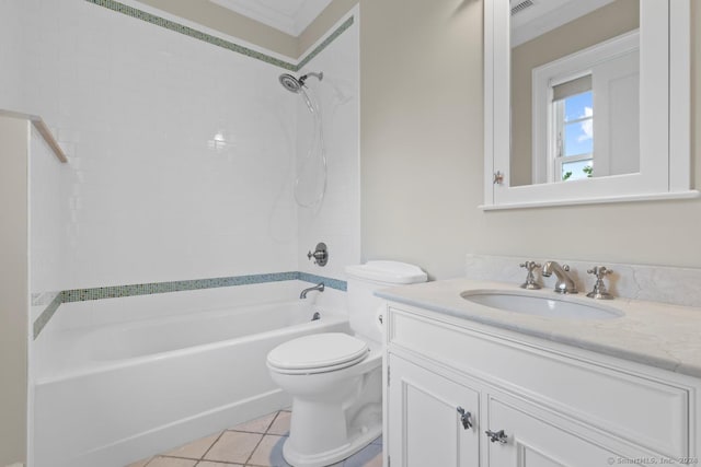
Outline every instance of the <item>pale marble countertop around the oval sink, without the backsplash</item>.
POLYGON ((554 342, 701 377, 701 307, 617 297, 594 301, 586 294, 527 291, 504 282, 451 279, 383 289, 378 296, 554 342), (604 305, 623 313, 614 319, 570 319, 526 315, 478 305, 466 290, 504 290, 604 305))

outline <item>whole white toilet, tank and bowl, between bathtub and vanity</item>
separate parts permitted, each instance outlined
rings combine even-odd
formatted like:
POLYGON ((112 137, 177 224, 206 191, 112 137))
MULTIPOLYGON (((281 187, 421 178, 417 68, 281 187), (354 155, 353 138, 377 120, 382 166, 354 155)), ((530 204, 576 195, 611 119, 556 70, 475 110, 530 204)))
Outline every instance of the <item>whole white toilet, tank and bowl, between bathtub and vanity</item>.
POLYGON ((283 456, 295 467, 323 467, 382 434, 382 301, 378 289, 425 282, 418 267, 398 261, 348 266, 353 336, 323 332, 284 342, 267 355, 273 381, 292 397, 283 456))

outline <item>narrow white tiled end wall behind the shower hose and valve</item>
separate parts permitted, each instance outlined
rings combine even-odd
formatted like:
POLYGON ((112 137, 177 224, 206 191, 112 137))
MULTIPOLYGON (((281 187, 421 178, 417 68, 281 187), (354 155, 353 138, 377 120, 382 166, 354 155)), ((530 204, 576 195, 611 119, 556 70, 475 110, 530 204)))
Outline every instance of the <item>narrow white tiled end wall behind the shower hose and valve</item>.
MULTIPOLYGON (((324 73, 321 82, 310 78, 307 83, 321 107, 327 186, 318 208, 298 209, 299 270, 342 280, 346 278, 345 266, 360 260, 358 9, 353 14, 354 24, 300 71, 324 73), (307 258, 319 242, 329 247, 324 267, 307 258)), ((313 119, 302 97, 295 97, 299 166, 309 151, 313 119)))

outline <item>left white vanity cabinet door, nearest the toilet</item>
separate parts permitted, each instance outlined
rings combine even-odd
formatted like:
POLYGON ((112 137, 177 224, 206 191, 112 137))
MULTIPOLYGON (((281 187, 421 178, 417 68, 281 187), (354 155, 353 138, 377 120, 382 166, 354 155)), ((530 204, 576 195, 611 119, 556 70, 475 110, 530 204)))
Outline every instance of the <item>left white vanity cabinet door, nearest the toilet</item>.
POLYGON ((479 393, 393 354, 389 366, 391 467, 478 467, 479 393), (463 425, 459 407, 471 425, 463 425))

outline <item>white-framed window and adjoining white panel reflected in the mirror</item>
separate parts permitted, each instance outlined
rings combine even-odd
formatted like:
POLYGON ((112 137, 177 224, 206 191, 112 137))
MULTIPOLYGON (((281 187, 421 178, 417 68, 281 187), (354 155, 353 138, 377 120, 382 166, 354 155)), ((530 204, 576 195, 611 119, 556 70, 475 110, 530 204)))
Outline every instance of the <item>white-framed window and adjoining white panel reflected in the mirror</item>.
POLYGON ((633 32, 533 69, 535 184, 640 172, 639 49, 633 32))

